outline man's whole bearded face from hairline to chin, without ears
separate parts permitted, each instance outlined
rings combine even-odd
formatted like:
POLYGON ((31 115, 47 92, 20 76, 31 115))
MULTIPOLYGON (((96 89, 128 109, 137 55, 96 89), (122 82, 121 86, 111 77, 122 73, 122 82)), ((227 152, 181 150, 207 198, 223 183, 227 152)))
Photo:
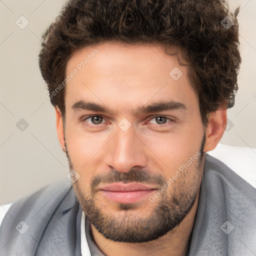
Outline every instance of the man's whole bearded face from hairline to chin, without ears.
POLYGON ((164 235, 192 207, 203 169, 205 131, 187 66, 160 45, 105 42, 74 52, 72 72, 64 137, 83 211, 115 241, 164 235))

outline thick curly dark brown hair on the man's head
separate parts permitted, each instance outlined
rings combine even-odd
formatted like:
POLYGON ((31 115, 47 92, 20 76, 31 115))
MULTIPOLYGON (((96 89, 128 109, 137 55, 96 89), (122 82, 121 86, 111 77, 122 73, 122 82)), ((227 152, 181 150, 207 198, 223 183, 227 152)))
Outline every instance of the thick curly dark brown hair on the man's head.
POLYGON ((65 89, 54 90, 74 50, 109 40, 156 42, 167 54, 173 54, 169 46, 181 49, 206 124, 208 113, 234 104, 241 62, 238 11, 230 12, 224 0, 70 0, 42 35, 39 67, 50 101, 64 118, 65 89))

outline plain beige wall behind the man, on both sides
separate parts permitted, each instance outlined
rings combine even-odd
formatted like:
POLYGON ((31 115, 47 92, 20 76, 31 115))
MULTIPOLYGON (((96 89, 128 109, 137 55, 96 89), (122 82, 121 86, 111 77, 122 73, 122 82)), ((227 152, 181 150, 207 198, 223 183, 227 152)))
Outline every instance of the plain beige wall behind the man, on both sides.
MULTIPOLYGON (((56 136, 53 107, 37 64, 40 35, 63 2, 0 0, 0 204, 68 173, 56 136), (21 15, 29 21, 24 29, 15 23, 21 15), (21 118, 28 124, 23 131, 16 127, 21 118)), ((221 142, 256 147, 256 0, 230 1, 232 10, 238 5, 239 90, 235 106, 228 110, 229 129, 221 142)), ((25 24, 22 20, 20 26, 25 24)))

